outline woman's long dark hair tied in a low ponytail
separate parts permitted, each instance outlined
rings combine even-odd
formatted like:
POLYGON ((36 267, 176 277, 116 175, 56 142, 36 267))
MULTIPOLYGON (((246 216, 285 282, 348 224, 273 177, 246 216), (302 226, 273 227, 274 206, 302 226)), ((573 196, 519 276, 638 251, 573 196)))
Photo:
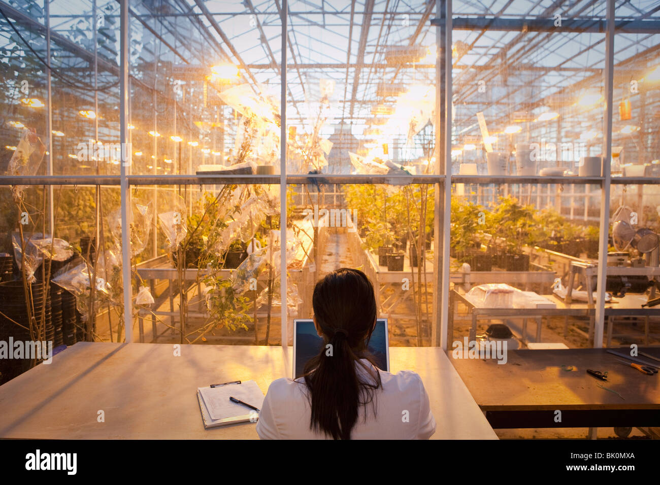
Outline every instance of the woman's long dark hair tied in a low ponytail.
POLYGON ((374 286, 362 271, 341 268, 317 282, 312 306, 323 346, 304 368, 311 394, 310 428, 333 439, 350 439, 359 406, 364 405, 366 419, 366 405, 381 385, 378 370, 374 379, 363 380, 355 368, 359 359, 372 361, 366 348, 376 321, 374 286))

